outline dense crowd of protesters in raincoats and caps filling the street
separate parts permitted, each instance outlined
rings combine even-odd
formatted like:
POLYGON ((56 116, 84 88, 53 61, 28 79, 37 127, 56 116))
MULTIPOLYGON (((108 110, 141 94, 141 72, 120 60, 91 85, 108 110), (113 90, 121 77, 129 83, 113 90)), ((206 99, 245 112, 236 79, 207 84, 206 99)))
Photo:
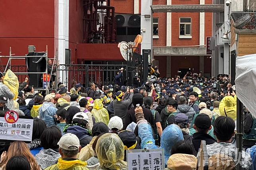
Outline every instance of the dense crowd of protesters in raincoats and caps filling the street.
POLYGON ((228 75, 153 79, 140 87, 91 82, 68 89, 59 83, 56 93, 44 95, 26 78, 14 99, 0 73, 0 115, 14 110, 34 118, 31 142, 2 142, 0 168, 127 170, 126 150, 163 148, 166 170, 194 170, 201 141, 209 169, 231 170, 238 163, 245 170, 256 168, 256 119, 244 108, 238 153, 237 96, 228 75))

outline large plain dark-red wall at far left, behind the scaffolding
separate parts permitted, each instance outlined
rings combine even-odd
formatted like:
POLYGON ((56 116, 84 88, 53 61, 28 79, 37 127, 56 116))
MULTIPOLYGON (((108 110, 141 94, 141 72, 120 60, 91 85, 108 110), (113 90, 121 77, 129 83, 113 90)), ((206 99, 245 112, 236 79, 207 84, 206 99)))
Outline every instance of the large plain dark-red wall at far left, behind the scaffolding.
MULTIPOLYGON (((55 3, 58 3, 58 0, 1 1, 1 55, 9 55, 10 46, 12 53, 25 55, 28 53, 28 45, 35 45, 38 52, 45 51, 48 45, 48 55, 54 57, 57 47, 56 44, 54 46, 54 38, 56 38, 54 20, 58 14, 55 3)), ((20 61, 13 63, 25 64, 20 61)))

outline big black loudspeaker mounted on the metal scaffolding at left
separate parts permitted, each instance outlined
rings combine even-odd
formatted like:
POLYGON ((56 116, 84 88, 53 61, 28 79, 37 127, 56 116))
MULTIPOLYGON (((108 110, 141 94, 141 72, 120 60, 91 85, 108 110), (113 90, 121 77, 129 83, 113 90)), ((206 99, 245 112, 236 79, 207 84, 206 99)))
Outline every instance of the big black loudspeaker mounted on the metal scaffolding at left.
MULTIPOLYGON (((27 56, 43 56, 45 52, 32 52, 27 56)), ((26 58, 27 70, 29 73, 40 73, 46 71, 46 57, 28 57, 26 58)), ((43 74, 29 74, 29 85, 34 88, 43 88, 43 74)))

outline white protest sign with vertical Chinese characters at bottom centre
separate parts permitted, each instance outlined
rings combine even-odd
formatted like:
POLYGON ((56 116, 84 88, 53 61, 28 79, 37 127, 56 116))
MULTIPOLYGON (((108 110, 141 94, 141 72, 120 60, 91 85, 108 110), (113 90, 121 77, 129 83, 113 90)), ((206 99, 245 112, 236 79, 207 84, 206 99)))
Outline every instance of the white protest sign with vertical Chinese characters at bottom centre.
POLYGON ((164 170, 163 149, 126 150, 128 170, 164 170))

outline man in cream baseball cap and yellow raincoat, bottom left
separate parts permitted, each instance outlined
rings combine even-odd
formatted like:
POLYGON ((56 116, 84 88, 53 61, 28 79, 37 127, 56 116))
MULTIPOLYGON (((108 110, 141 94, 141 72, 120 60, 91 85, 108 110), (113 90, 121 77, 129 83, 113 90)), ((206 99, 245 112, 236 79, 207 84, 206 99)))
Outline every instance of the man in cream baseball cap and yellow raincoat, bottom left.
POLYGON ((74 134, 65 134, 58 142, 61 158, 58 163, 45 168, 45 170, 88 170, 87 163, 76 159, 81 151, 80 141, 74 134))

